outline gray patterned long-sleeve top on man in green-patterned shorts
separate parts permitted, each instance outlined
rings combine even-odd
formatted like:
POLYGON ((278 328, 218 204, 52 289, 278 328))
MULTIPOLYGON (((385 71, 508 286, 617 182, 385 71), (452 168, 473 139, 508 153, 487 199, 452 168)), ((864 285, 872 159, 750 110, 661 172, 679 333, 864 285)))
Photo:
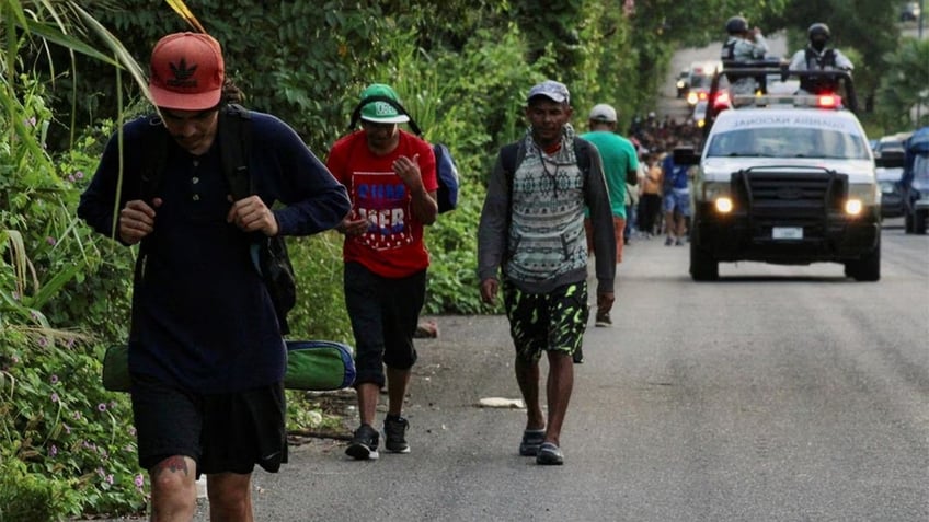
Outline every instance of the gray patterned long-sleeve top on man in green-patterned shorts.
POLYGON ((478 229, 480 280, 496 279, 502 269, 507 280, 531 293, 585 280, 585 206, 594 227, 597 293, 612 292, 616 235, 596 148, 575 140, 567 129, 561 150, 553 155, 541 152, 529 135, 521 143, 501 149, 478 229), (513 154, 512 148, 516 148, 516 161, 508 172, 504 156, 513 154), (588 169, 578 156, 589 159, 588 169))

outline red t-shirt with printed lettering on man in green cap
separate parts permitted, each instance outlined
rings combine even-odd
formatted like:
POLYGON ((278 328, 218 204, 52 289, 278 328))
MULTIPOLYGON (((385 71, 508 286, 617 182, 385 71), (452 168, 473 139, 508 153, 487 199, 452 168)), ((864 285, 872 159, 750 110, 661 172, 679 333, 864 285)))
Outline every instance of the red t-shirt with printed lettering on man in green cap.
POLYGON ((360 263, 382 277, 405 277, 429 266, 423 223, 413 216, 410 192, 392 166, 401 155, 412 159, 416 154, 423 187, 429 193, 438 190, 432 146, 405 130, 400 130, 400 142, 387 155, 375 155, 368 149, 364 130, 332 146, 325 166, 348 188, 352 219, 370 222, 364 234, 345 236, 342 257, 346 263, 360 263))

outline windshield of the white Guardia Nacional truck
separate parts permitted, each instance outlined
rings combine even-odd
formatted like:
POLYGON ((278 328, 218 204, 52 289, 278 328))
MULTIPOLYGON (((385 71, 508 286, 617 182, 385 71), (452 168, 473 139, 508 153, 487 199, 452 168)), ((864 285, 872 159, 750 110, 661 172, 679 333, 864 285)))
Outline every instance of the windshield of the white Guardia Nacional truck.
POLYGON ((868 160, 868 143, 860 136, 821 128, 759 127, 713 136, 707 156, 825 158, 868 160))

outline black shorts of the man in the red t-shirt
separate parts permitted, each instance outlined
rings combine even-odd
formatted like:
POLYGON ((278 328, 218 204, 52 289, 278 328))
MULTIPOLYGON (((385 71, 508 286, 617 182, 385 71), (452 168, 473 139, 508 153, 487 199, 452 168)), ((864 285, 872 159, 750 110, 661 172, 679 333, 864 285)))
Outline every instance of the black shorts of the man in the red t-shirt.
POLYGON ((409 370, 416 362, 413 334, 426 299, 426 270, 381 277, 346 263, 345 308, 355 334, 355 384, 383 386, 383 367, 409 370))

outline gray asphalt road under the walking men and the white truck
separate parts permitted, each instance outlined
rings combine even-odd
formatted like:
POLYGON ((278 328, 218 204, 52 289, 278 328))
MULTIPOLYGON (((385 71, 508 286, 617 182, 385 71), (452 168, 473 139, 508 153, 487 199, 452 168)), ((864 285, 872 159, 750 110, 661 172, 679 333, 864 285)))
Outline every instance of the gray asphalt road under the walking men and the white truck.
POLYGON ((437 317, 412 453, 295 446, 255 474, 256 520, 929 520, 929 236, 883 241, 876 283, 756 263, 695 283, 686 247, 633 241, 615 325, 575 366, 562 467, 518 456, 524 410, 475 406, 518 397, 506 322, 437 317))

